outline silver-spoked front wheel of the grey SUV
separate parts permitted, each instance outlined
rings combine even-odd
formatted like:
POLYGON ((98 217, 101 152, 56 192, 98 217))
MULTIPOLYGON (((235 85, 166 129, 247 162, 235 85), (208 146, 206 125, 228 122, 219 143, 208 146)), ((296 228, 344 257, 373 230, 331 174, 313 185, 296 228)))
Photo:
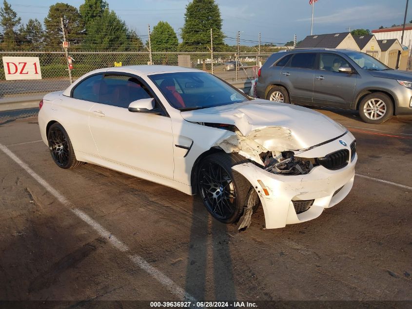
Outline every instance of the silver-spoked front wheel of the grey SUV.
POLYGON ((390 97, 381 92, 365 96, 359 104, 359 116, 368 124, 382 124, 393 116, 390 97))

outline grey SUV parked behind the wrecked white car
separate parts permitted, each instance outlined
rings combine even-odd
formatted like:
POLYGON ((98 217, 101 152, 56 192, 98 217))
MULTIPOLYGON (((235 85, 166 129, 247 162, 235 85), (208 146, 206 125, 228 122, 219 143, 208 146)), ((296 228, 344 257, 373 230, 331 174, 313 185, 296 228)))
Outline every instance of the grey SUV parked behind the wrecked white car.
POLYGON ((369 124, 412 114, 412 74, 353 50, 278 52, 258 76, 257 96, 271 101, 357 109, 369 124))

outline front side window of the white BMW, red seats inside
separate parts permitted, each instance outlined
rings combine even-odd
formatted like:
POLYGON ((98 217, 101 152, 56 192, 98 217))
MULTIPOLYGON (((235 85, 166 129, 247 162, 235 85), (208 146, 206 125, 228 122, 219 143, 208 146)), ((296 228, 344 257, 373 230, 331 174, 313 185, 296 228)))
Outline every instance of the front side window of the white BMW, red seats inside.
POLYGON ((125 75, 106 75, 100 82, 98 103, 128 108, 139 99, 153 98, 136 78, 125 75))

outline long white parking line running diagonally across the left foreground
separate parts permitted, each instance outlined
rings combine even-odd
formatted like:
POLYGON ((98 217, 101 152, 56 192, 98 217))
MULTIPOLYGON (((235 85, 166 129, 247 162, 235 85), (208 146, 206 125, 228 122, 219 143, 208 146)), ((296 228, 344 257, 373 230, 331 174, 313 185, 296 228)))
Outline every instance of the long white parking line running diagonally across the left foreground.
MULTIPOLYGON (((111 232, 102 227, 98 222, 93 220, 86 213, 78 208, 72 208, 71 203, 67 200, 58 190, 49 185, 43 178, 41 178, 33 169, 31 169, 26 163, 20 160, 9 148, 0 144, 0 149, 10 157, 14 162, 20 165, 30 176, 32 176, 40 185, 42 185, 49 193, 51 193, 59 202, 68 207, 78 218, 87 223, 90 227, 98 232, 99 235, 108 239, 108 241, 119 251, 127 252, 129 247, 127 247, 123 242, 121 242, 116 236, 111 232)), ((129 259, 139 268, 146 271, 149 275, 155 278, 163 287, 165 287, 169 292, 173 293, 177 297, 185 301, 196 302, 196 299, 187 293, 184 289, 180 288, 172 279, 162 273, 160 270, 151 266, 146 260, 144 260, 139 255, 128 255, 129 259)))

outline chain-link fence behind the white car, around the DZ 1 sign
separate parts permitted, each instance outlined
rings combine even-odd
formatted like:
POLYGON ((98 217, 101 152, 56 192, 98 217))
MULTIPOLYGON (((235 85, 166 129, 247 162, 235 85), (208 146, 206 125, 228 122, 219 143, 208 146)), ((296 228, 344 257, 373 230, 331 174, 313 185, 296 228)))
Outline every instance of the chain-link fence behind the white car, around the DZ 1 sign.
MULTIPOLYGON (((180 65, 204 70, 228 82, 253 79, 259 62, 262 64, 272 53, 239 52, 90 52, 72 51, 73 80, 95 69, 113 67, 115 62, 125 65, 153 64, 180 65), (150 57, 152 56, 152 57, 150 57), (236 63, 237 62, 237 63, 236 63)), ((6 81, 3 67, 0 68, 0 103, 4 100, 22 100, 27 96, 63 90, 70 85, 67 60, 63 51, 0 52, 1 57, 39 57, 41 80, 6 81)))

